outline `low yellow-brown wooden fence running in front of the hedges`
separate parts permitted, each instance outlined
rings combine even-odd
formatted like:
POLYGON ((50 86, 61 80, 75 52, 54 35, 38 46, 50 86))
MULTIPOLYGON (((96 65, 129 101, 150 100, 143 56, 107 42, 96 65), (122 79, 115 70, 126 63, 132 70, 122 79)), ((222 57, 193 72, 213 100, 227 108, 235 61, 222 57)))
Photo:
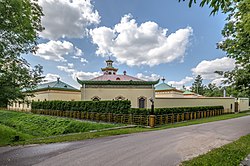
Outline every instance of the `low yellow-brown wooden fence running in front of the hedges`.
MULTIPOLYGON (((149 124, 149 115, 112 114, 112 113, 95 113, 95 112, 79 112, 79 111, 54 111, 54 110, 32 110, 31 112, 35 114, 77 118, 77 119, 97 121, 97 122, 152 126, 149 124)), ((223 112, 224 112, 223 110, 214 110, 214 111, 185 112, 185 113, 172 113, 166 115, 156 115, 153 126, 217 116, 217 115, 222 115, 223 112)))

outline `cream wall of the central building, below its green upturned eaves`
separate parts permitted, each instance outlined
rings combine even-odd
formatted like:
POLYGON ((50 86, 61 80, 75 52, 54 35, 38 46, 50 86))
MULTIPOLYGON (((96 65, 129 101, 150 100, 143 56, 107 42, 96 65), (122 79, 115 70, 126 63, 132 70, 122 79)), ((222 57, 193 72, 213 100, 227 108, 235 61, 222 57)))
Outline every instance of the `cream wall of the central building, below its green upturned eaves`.
POLYGON ((151 87, 86 87, 81 88, 82 100, 92 100, 94 97, 100 100, 116 100, 123 97, 131 101, 132 108, 139 107, 138 99, 144 97, 146 107, 150 108, 149 98, 154 97, 154 89, 151 87))

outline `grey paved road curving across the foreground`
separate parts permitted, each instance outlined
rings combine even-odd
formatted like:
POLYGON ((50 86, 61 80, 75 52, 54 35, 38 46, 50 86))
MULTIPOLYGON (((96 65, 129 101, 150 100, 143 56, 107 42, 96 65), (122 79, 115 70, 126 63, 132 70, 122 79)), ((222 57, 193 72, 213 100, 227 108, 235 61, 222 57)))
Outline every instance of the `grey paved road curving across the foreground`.
POLYGON ((0 148, 0 165, 174 166, 250 133, 250 116, 79 142, 0 148))

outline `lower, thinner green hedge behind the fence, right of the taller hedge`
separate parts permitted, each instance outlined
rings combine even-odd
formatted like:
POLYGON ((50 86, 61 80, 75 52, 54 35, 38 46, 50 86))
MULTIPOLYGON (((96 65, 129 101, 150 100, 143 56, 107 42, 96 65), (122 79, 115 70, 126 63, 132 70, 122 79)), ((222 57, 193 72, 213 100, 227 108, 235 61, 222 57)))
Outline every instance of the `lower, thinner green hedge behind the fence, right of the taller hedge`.
MULTIPOLYGON (((172 113, 183 113, 183 112, 198 112, 198 111, 212 111, 224 109, 223 106, 202 106, 202 107, 174 107, 174 108, 155 108, 155 115, 164 115, 172 113)), ((129 113, 137 115, 149 115, 150 109, 131 108, 129 113)))

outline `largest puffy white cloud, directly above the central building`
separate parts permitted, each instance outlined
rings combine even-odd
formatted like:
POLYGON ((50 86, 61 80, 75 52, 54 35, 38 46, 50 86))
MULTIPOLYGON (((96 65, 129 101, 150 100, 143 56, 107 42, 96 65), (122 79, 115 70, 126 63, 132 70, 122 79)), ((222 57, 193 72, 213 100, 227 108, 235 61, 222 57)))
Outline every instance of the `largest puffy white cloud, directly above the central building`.
POLYGON ((112 55, 119 63, 129 66, 154 66, 178 59, 182 61, 192 32, 192 28, 187 27, 167 36, 167 29, 157 23, 148 21, 138 25, 129 14, 113 29, 95 28, 90 30, 90 35, 98 46, 98 55, 112 55))

